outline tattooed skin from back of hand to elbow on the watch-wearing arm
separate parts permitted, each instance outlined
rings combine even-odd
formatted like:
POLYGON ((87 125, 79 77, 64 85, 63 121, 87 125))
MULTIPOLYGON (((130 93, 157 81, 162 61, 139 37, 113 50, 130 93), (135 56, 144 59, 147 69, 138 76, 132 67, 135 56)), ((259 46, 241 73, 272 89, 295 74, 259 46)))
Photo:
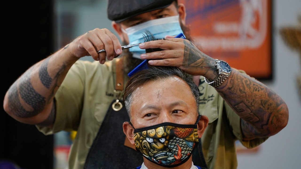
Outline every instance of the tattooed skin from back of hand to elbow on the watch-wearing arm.
MULTIPOLYGON (((203 75, 209 81, 218 77, 216 60, 184 40, 182 69, 191 75, 203 75)), ((216 88, 229 106, 241 117, 244 140, 278 133, 288 121, 284 101, 271 89, 248 75, 232 69, 230 77, 216 88)))

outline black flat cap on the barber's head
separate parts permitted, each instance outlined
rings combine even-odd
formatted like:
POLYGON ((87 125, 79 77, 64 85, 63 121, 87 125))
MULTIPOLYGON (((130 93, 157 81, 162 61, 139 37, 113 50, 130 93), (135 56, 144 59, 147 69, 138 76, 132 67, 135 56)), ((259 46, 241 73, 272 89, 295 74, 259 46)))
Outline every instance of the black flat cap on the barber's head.
POLYGON ((145 12, 168 7, 175 0, 109 0, 108 18, 116 23, 145 12))

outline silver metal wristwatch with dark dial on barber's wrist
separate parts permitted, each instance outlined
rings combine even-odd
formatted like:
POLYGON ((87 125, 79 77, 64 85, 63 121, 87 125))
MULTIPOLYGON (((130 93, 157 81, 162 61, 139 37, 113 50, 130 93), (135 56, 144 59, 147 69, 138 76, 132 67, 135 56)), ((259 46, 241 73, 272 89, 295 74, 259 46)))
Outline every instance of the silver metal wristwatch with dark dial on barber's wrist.
POLYGON ((217 70, 219 71, 219 77, 215 81, 209 82, 206 78, 205 81, 207 84, 213 87, 218 87, 221 85, 231 74, 231 67, 229 64, 225 61, 216 59, 215 64, 217 70))

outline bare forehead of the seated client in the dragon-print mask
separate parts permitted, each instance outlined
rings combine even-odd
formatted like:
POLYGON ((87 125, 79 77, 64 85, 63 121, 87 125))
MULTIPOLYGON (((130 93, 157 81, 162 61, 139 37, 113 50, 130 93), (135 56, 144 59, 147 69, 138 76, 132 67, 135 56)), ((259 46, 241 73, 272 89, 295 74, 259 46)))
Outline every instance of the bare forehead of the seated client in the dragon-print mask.
POLYGON ((140 112, 145 105, 170 106, 180 102, 195 111, 196 103, 189 85, 179 77, 148 81, 132 95, 131 111, 140 112))

